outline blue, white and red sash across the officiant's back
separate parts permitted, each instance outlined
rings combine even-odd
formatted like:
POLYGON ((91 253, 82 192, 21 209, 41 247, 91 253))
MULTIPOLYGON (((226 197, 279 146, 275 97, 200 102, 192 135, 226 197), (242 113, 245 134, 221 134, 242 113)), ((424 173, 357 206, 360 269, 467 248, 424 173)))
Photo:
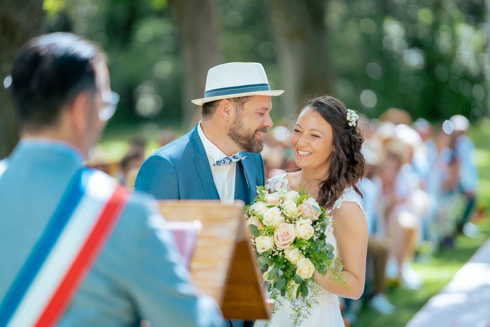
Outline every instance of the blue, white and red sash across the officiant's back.
POLYGON ((80 169, 0 305, 0 326, 54 325, 95 262, 129 192, 80 169))

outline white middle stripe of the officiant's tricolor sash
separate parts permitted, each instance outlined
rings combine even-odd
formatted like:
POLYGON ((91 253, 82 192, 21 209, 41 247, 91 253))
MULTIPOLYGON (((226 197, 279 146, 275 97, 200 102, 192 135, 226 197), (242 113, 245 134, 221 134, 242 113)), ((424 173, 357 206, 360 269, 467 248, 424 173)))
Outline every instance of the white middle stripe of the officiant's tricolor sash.
POLYGON ((96 171, 91 175, 79 205, 24 295, 9 325, 32 326, 36 323, 75 261, 93 226, 99 221, 115 188, 116 184, 108 182, 104 173, 96 171))

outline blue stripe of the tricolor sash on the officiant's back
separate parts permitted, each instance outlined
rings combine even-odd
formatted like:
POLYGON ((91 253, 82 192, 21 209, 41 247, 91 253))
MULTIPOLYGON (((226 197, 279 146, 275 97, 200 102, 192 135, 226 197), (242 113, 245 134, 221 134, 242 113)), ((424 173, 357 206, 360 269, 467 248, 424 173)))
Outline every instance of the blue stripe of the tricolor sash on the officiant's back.
POLYGON ((24 295, 26 295, 34 278, 41 269, 53 246, 58 241, 75 208, 84 195, 85 181, 88 180, 92 170, 82 168, 72 177, 63 194, 55 213, 48 222, 43 235, 37 241, 31 254, 20 269, 19 274, 12 283, 7 295, 0 305, 0 326, 6 326, 17 310, 24 295))

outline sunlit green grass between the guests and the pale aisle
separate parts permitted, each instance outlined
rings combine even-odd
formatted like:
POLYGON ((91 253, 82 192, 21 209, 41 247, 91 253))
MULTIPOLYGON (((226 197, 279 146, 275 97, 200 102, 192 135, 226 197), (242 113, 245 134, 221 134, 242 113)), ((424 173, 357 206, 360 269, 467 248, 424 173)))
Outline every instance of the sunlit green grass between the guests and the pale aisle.
MULTIPOLYGON (((469 131, 477 147, 476 162, 479 171, 478 207, 490 207, 490 120, 481 122, 469 131)), ((413 268, 424 281, 420 290, 410 291, 402 287, 387 289, 387 297, 397 308, 391 315, 381 315, 364 306, 353 327, 404 326, 419 311, 429 298, 437 294, 453 278, 456 271, 467 262, 479 246, 490 236, 490 219, 480 223, 481 236, 468 238, 458 236, 455 248, 442 249, 423 263, 414 263, 413 268)))

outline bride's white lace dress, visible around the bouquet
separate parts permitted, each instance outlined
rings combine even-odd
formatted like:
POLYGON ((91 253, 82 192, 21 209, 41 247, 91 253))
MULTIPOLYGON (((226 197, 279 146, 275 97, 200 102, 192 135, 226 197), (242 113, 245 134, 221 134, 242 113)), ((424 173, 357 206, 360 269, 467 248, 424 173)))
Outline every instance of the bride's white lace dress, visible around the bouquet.
MULTIPOLYGON (((269 178, 265 185, 267 190, 272 192, 279 191, 282 189, 288 189, 289 181, 287 178, 287 174, 282 174, 275 176, 273 178, 269 178)), ((355 202, 362 209, 361 198, 354 191, 353 188, 347 188, 341 194, 341 196, 335 201, 333 205, 333 209, 340 208, 342 203, 344 202, 355 202)), ((332 210, 333 210, 332 209, 332 210)), ((329 214, 331 211, 326 211, 329 214)), ((362 209, 362 212, 364 210, 362 209)), ((364 214, 365 215, 365 214, 364 214)), ((330 222, 327 226, 327 230, 325 231, 325 235, 327 236, 326 240, 328 243, 332 244, 334 247, 334 254, 338 256, 337 250, 337 240, 335 239, 333 225, 330 222)), ((318 305, 313 307, 311 310, 311 315, 303 320, 301 326, 302 327, 339 327, 344 326, 344 320, 340 314, 340 307, 338 302, 337 295, 322 289, 320 296, 318 296, 318 305)), ((291 325, 289 316, 291 313, 291 307, 287 300, 282 301, 282 307, 274 314, 271 321, 269 322, 269 326, 271 327, 287 327, 291 325)), ((265 325, 265 320, 257 320, 254 324, 254 327, 262 327, 265 325)))

